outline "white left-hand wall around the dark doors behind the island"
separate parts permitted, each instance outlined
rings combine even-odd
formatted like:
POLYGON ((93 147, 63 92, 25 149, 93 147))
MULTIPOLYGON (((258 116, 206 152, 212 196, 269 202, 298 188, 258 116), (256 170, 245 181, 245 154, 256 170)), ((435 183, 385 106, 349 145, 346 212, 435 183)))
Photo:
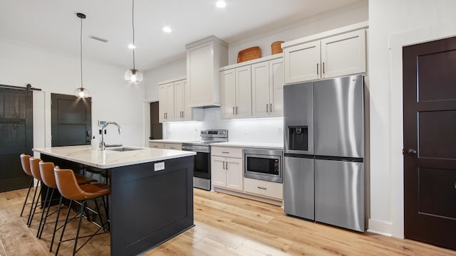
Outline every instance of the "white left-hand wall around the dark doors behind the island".
MULTIPOLYGON (((83 62, 83 85, 93 101, 92 129, 98 139, 98 120, 116 121, 123 135, 109 127, 108 143, 144 146, 144 86, 126 85, 124 74, 120 68, 83 62)), ((25 87, 27 83, 43 90, 34 96, 33 146, 51 146, 51 93, 73 95, 81 86, 80 60, 0 41, 0 84, 25 87)))

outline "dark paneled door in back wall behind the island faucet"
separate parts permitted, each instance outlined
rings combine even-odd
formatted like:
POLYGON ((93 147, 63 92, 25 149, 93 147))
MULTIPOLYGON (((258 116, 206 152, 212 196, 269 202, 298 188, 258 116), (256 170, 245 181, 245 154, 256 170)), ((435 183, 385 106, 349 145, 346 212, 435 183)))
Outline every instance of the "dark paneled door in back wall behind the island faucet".
POLYGON ((92 135, 91 98, 51 94, 52 146, 90 144, 92 135))

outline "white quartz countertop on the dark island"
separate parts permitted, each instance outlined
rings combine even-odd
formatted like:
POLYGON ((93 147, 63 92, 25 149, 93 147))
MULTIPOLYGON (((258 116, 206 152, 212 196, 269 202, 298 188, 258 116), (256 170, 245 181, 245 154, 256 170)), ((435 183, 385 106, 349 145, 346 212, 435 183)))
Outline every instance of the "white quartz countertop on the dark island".
POLYGON ((33 149, 33 151, 49 156, 56 156, 79 164, 108 169, 133 164, 143 164, 152 161, 163 161, 185 156, 195 155, 194 151, 180 151, 172 149, 151 149, 137 146, 123 146, 131 151, 113 151, 108 148, 105 151, 91 149, 90 145, 83 146, 56 146, 50 148, 33 149))

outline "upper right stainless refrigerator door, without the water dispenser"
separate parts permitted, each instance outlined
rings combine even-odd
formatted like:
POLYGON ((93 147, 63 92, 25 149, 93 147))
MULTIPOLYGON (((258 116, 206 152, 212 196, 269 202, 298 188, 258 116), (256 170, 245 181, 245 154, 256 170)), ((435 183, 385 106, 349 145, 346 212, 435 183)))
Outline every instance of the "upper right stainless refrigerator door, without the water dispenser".
POLYGON ((314 154, 364 157, 363 75, 314 82, 314 154))

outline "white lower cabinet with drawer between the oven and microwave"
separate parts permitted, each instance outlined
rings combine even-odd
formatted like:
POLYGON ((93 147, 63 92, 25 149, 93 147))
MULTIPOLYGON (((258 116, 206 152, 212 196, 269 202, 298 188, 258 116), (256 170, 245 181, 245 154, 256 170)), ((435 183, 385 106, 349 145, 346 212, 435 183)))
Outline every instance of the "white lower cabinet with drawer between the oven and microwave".
POLYGON ((242 191, 244 181, 242 149, 213 147, 211 151, 212 186, 242 191), (217 156, 217 154, 238 157, 217 156))

